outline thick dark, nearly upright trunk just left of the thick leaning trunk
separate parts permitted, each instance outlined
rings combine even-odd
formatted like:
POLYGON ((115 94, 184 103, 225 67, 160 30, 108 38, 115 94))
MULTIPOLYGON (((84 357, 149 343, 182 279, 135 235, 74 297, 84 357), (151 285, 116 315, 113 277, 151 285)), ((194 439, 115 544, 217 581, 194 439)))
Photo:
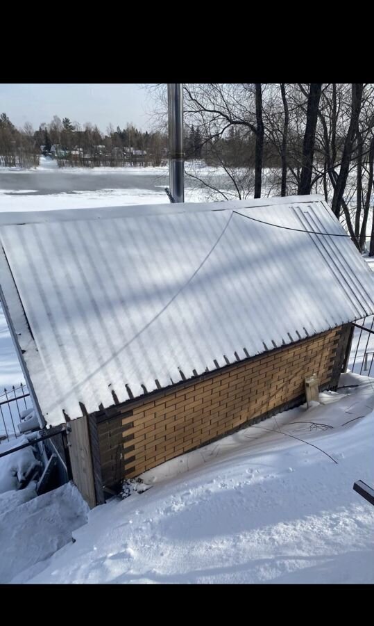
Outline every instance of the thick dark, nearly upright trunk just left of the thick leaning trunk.
POLYGON ((307 123, 303 142, 303 161, 298 185, 298 195, 308 195, 312 183, 312 166, 314 156, 314 143, 316 139, 316 126, 318 117, 318 105, 321 98, 322 83, 311 83, 307 104, 307 123))

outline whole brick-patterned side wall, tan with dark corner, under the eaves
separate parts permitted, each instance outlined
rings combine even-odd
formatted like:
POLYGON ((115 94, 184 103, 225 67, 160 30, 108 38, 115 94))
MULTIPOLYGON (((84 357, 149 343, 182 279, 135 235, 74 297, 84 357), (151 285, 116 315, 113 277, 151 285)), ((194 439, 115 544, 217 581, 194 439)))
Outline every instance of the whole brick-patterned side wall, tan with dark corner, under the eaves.
POLYGON ((305 400, 304 378, 337 385, 349 326, 98 415, 103 485, 138 476, 207 442, 305 400))

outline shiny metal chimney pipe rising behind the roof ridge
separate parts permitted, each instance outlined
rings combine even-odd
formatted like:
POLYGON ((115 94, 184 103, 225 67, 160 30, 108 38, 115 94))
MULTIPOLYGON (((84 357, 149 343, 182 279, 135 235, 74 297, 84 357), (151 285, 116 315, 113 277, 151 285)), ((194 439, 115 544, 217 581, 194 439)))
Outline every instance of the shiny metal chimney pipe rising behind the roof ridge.
POLYGON ((183 86, 168 83, 169 181, 174 202, 185 202, 185 153, 183 152, 183 86))

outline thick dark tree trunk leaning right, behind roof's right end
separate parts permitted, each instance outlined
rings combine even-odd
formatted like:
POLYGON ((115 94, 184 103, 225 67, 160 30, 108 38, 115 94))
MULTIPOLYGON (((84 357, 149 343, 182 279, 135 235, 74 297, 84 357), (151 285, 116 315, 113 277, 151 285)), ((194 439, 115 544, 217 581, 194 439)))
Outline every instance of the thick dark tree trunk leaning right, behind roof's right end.
POLYGON ((358 131, 359 112, 361 110, 362 92, 364 90, 363 83, 352 83, 352 113, 350 115, 350 124, 346 141, 344 142, 343 154, 341 155, 340 171, 337 179, 337 186, 332 198, 332 211, 339 219, 341 200, 346 189, 350 159, 352 157, 353 143, 358 131))

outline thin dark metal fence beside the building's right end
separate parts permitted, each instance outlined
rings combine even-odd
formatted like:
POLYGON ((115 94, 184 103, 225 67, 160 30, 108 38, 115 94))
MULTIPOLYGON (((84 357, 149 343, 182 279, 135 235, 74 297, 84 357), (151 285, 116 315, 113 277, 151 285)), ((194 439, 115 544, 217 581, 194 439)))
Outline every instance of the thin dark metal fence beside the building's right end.
POLYGON ((348 369, 362 376, 374 375, 374 315, 357 321, 353 333, 348 369))

